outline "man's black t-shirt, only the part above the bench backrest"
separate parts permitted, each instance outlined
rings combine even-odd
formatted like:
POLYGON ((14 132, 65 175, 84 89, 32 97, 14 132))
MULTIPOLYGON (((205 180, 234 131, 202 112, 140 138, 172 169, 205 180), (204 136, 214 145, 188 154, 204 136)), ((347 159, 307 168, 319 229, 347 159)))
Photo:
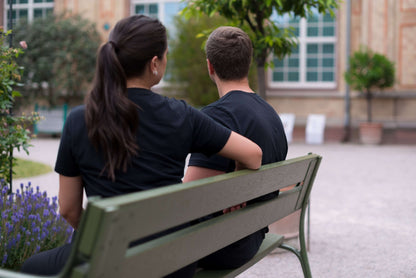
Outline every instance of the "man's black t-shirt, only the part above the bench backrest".
MULTIPOLYGON (((202 111, 223 126, 246 136, 263 151, 262 164, 286 159, 287 140, 280 117, 265 100, 254 93, 231 91, 202 111)), ((193 153, 190 166, 232 172, 233 160, 193 153)))

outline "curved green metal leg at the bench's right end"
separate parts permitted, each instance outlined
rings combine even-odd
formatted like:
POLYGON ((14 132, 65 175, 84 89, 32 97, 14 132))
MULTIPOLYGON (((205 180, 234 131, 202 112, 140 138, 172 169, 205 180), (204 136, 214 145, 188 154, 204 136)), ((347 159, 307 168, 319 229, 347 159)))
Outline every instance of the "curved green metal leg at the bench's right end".
POLYGON ((295 254, 296 257, 298 257, 300 264, 302 266, 303 276, 305 278, 312 278, 312 273, 311 273, 311 269, 309 266, 308 254, 307 254, 307 249, 306 249, 306 244, 305 244, 305 212, 306 212, 306 209, 302 209, 301 214, 300 214, 300 221, 299 221, 300 250, 288 244, 282 244, 279 246, 279 248, 288 250, 292 252, 293 254, 295 254))

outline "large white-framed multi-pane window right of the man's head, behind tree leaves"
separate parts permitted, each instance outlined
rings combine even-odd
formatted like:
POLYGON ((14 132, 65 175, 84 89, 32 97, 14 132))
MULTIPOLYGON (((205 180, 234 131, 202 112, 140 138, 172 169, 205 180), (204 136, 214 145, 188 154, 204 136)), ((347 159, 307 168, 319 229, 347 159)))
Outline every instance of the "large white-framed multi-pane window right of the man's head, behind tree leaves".
POLYGON ((334 88, 336 86, 336 23, 329 14, 314 11, 308 18, 274 17, 292 27, 298 45, 292 54, 273 58, 271 85, 279 88, 334 88))

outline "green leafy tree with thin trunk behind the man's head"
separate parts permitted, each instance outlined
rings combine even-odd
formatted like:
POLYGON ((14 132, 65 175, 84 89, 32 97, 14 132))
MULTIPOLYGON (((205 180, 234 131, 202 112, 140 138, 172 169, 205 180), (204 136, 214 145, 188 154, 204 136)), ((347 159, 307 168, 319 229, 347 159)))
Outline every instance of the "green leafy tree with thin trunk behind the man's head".
POLYGON ((290 29, 278 26, 271 19, 290 14, 306 17, 317 9, 320 13, 334 14, 337 0, 189 0, 183 13, 189 17, 198 14, 219 14, 234 25, 246 30, 254 45, 260 95, 265 97, 265 66, 270 54, 283 58, 290 54, 297 42, 290 29))

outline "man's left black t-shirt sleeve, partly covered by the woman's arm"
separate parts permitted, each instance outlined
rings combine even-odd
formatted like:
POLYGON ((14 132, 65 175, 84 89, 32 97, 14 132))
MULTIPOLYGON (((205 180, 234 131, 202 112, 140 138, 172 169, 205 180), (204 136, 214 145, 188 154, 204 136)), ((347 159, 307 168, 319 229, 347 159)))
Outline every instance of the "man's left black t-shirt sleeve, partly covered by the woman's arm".
MULTIPOLYGON (((209 106, 204 108, 202 111, 222 126, 238 132, 238 127, 234 123, 233 118, 230 117, 226 111, 209 106)), ((232 172, 235 168, 235 162, 233 160, 220 155, 207 156, 203 153, 196 152, 192 153, 188 165, 224 172, 232 172)))

